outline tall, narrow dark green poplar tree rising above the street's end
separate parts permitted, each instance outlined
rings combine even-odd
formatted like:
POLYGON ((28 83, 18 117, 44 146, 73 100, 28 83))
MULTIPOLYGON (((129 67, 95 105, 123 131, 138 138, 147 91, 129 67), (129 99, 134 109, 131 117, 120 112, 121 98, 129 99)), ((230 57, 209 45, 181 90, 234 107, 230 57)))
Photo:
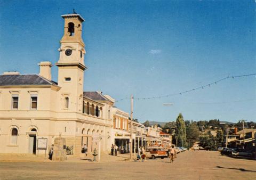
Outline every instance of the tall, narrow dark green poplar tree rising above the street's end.
POLYGON ((176 136, 178 139, 178 146, 186 145, 186 126, 182 114, 180 113, 176 119, 176 136))

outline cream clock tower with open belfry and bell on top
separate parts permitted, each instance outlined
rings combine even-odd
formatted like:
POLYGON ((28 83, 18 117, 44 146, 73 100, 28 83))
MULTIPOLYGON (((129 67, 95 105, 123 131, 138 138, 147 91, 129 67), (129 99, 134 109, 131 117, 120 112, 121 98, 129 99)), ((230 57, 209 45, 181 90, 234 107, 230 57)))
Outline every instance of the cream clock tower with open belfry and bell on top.
POLYGON ((85 44, 82 39, 82 23, 80 14, 64 14, 64 35, 60 40, 60 58, 58 66, 58 86, 61 87, 58 105, 59 110, 81 111, 83 102, 83 81, 85 44))

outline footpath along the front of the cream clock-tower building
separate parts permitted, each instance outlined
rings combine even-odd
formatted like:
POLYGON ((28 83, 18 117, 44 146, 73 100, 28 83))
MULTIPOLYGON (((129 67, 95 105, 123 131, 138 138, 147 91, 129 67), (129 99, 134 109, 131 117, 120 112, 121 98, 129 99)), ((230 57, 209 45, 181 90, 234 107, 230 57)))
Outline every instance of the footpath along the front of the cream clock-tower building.
MULTIPOLYGON (((101 153, 100 162, 93 161, 92 153, 79 154, 78 156, 67 156, 66 161, 52 161, 48 158, 48 154, 18 154, 18 153, 0 153, 0 162, 78 162, 78 163, 102 163, 102 162, 117 162, 129 160, 130 154, 117 154, 117 156, 110 156, 108 153, 101 153)), ((98 160, 98 156, 97 156, 98 160)))

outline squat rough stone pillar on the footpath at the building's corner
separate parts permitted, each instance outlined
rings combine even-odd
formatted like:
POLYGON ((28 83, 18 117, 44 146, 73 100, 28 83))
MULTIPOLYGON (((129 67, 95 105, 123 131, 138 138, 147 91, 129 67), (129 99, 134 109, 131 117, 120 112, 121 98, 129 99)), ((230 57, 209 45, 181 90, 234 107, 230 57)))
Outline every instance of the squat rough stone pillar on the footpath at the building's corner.
POLYGON ((66 139, 61 136, 55 138, 53 147, 53 161, 67 160, 66 139))

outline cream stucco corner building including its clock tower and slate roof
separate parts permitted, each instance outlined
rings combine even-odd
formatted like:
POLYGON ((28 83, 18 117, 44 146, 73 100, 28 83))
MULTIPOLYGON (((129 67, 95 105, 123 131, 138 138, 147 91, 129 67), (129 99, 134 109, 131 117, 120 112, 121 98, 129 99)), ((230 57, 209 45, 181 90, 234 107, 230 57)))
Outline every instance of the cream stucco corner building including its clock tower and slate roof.
MULTIPOLYGON (((41 62, 38 75, 6 72, 0 76, 0 152, 37 153, 38 138, 47 138, 47 150, 61 134, 74 154, 82 144, 95 147, 93 134, 101 136, 101 150, 110 148, 114 101, 100 92, 84 92, 85 44, 79 14, 62 15, 58 82, 51 79, 50 62, 41 62)), ((44 151, 39 151, 44 153, 44 151)))

